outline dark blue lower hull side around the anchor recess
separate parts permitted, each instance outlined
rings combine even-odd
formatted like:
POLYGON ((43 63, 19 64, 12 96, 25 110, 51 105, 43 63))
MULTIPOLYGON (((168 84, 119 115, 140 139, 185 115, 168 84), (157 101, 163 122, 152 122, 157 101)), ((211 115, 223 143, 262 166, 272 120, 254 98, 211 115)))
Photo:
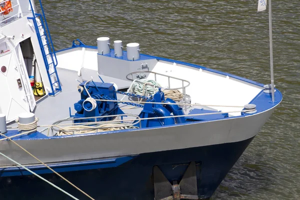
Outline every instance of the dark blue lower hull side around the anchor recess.
MULTIPOLYGON (((180 181, 190 161, 195 161, 198 197, 208 198, 252 138, 233 143, 144 153, 117 167, 77 170, 60 174, 95 199, 153 200, 154 165, 158 165, 165 177, 172 182, 172 180, 180 181)), ((77 198, 87 199, 53 173, 42 174, 42 176, 77 198)), ((71 198, 36 176, 23 175, 0 177, 0 199, 71 198)))

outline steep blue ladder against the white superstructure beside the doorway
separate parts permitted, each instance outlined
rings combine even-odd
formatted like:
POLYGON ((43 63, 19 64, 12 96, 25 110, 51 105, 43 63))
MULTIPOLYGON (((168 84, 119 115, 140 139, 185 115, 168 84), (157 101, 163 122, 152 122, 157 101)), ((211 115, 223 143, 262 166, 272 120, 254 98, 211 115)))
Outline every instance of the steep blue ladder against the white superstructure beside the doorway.
POLYGON ((39 0, 39 4, 40 4, 40 9, 42 14, 35 13, 31 0, 29 0, 29 3, 30 3, 33 17, 27 17, 27 18, 32 19, 33 21, 38 43, 42 53, 43 61, 45 63, 45 67, 46 67, 46 71, 47 71, 47 75, 51 87, 51 91, 48 94, 55 95, 57 92, 61 91, 61 84, 56 70, 57 58, 56 58, 53 42, 51 39, 51 35, 49 32, 48 24, 45 18, 45 13, 43 11, 40 0, 39 0))

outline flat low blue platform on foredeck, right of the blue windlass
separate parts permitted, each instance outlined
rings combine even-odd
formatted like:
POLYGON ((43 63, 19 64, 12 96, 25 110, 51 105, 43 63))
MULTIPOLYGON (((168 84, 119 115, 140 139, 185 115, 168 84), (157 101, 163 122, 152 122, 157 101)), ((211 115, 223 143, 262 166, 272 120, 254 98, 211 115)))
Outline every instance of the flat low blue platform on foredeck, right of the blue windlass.
MULTIPOLYGON (((204 113, 213 113, 217 112, 214 110, 208 109, 197 109, 194 108, 190 110, 188 114, 204 114, 204 113)), ((205 114, 205 115, 197 115, 197 116, 186 116, 186 120, 193 120, 193 121, 203 121, 203 120, 215 120, 228 117, 228 113, 216 113, 216 114, 205 114)))

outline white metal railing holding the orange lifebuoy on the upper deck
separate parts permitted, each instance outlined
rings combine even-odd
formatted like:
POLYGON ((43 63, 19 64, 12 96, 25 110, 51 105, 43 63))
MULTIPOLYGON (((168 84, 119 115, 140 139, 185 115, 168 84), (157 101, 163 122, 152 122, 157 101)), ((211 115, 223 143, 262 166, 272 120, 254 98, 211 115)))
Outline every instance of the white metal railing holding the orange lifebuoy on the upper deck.
MULTIPOLYGON (((4 0, 0 3, 0 6, 3 7, 5 5, 5 2, 8 2, 9 0, 4 0)), ((10 0, 11 1, 11 8, 12 11, 10 11, 7 16, 4 16, 4 12, 6 10, 0 11, 0 17, 3 17, 3 19, 0 21, 0 27, 6 25, 8 22, 14 21, 15 19, 22 17, 22 10, 19 3, 19 0, 10 0)))

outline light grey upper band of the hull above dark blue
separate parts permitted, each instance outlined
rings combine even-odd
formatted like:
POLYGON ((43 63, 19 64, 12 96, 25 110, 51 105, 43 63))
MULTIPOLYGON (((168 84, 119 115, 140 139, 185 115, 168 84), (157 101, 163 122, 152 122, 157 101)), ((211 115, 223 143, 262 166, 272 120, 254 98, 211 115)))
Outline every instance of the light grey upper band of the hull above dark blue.
MULTIPOLYGON (((188 147, 236 142, 255 136, 275 107, 246 117, 133 131, 15 140, 43 162, 133 155, 188 147)), ((10 141, 0 151, 23 164, 38 163, 10 141)), ((12 164, 0 157, 0 166, 12 164)))

